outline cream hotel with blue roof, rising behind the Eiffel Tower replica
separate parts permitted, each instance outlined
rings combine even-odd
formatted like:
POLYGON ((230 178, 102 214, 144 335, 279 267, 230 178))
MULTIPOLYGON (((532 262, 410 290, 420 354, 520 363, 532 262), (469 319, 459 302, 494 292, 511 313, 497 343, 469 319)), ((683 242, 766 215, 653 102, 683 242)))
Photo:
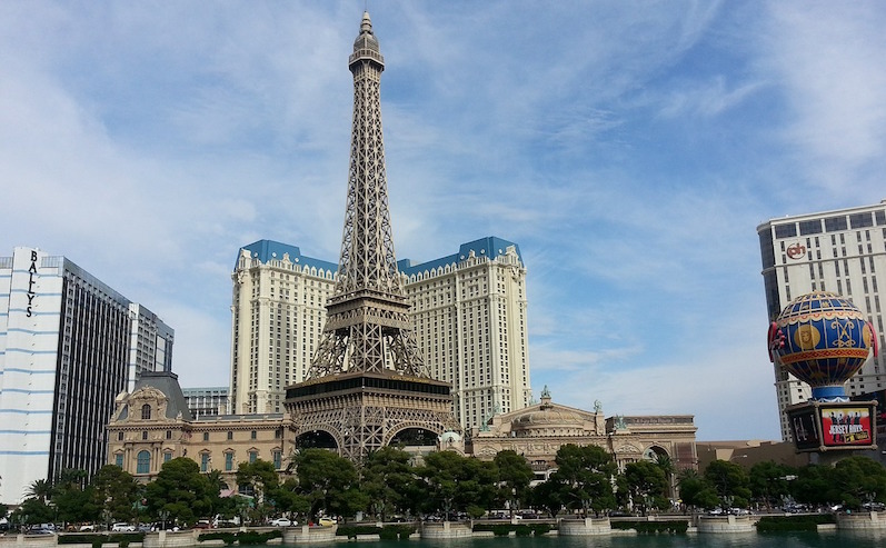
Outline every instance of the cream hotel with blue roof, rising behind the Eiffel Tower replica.
MULTIPOLYGON (((425 363, 431 377, 451 383, 461 426, 528 406, 519 247, 488 237, 432 261, 397 265, 425 363)), ((232 273, 232 412, 282 412, 286 386, 305 380, 320 342, 337 268, 270 240, 240 249, 232 273)))

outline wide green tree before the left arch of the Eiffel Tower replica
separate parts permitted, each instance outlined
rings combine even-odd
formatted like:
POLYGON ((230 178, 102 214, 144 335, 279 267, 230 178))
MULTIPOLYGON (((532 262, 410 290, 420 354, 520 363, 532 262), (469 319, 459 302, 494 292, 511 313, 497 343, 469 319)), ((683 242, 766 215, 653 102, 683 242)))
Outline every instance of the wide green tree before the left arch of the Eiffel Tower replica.
POLYGON ((323 511, 351 516, 366 507, 360 504, 359 478, 354 464, 326 449, 305 449, 295 457, 299 492, 310 502, 309 516, 323 511))

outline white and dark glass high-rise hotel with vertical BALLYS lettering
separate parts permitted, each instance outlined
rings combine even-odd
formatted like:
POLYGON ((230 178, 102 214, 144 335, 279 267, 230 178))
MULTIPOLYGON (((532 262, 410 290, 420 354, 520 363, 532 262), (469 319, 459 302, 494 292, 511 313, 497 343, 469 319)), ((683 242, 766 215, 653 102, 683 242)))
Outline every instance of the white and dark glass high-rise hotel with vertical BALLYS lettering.
POLYGON ((106 461, 115 398, 169 370, 175 331, 64 257, 0 257, 0 500, 106 461))

